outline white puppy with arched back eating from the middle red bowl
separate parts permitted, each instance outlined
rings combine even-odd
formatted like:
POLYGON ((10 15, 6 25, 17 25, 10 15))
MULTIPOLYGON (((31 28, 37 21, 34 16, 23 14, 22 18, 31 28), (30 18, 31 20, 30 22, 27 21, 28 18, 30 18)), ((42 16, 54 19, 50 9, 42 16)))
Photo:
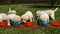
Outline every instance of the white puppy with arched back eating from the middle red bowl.
POLYGON ((27 11, 24 15, 21 16, 23 22, 30 20, 30 22, 34 21, 34 17, 31 11, 27 11))

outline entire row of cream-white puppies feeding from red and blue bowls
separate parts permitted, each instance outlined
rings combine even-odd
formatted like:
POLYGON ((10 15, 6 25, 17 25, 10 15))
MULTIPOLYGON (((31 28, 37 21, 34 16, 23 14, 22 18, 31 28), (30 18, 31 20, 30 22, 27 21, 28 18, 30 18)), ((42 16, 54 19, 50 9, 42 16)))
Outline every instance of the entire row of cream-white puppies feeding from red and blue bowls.
MULTIPOLYGON (((55 10, 37 11, 36 12, 37 19, 49 22, 49 16, 50 16, 53 20, 55 20, 54 15, 57 9, 58 8, 56 8, 55 10)), ((16 15, 15 10, 11 10, 10 8, 8 11, 8 15, 5 13, 0 13, 0 22, 2 22, 3 20, 6 20, 8 22, 8 25, 10 25, 10 20, 13 22, 20 22, 22 20, 24 23, 30 20, 30 22, 32 22, 34 21, 34 16, 31 11, 27 11, 20 17, 19 15, 16 15)))

